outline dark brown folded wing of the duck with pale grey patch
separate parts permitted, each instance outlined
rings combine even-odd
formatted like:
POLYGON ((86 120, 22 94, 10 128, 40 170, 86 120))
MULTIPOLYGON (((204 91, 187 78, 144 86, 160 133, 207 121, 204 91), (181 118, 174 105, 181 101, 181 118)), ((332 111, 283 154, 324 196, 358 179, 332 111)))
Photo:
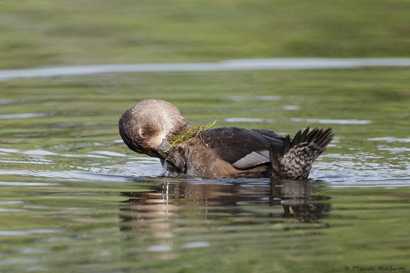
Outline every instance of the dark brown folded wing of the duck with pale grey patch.
POLYGON ((273 149, 282 150, 284 143, 284 137, 274 132, 237 127, 206 130, 201 133, 201 140, 237 169, 249 169, 270 162, 270 145, 273 149))

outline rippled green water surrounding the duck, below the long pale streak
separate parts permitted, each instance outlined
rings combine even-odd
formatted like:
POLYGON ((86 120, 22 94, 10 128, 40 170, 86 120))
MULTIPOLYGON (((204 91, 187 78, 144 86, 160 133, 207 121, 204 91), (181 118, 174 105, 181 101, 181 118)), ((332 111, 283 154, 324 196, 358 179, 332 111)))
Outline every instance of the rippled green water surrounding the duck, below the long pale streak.
POLYGON ((410 268, 408 69, 125 73, 0 82, 0 271, 410 268), (117 120, 331 126, 308 181, 160 177, 117 120))

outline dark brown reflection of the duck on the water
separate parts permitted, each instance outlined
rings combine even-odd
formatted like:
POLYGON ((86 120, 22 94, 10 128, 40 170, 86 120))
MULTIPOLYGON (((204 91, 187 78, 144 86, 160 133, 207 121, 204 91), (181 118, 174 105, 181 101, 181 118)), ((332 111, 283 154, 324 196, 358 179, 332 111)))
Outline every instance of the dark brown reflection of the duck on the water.
POLYGON ((318 222, 330 212, 331 205, 316 201, 330 197, 313 195, 312 185, 286 180, 253 183, 251 187, 247 183, 160 183, 147 192, 122 193, 129 199, 121 205, 120 218, 127 222, 121 229, 161 230, 160 236, 168 238, 172 235, 166 229, 212 225, 213 220, 235 218, 229 223, 253 224, 258 223, 252 221, 255 217, 274 223, 280 218, 318 222), (259 211, 257 206, 278 206, 284 212, 259 211))

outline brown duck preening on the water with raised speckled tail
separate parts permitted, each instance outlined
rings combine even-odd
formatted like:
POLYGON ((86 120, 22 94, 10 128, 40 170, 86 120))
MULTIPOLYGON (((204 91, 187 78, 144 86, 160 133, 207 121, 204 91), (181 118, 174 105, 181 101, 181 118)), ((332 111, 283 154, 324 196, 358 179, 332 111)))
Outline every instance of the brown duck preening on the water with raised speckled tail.
POLYGON ((165 176, 308 179, 313 162, 334 138, 332 128, 306 128, 290 138, 264 129, 221 127, 170 144, 193 128, 176 106, 160 99, 138 102, 118 121, 128 148, 159 158, 165 176))

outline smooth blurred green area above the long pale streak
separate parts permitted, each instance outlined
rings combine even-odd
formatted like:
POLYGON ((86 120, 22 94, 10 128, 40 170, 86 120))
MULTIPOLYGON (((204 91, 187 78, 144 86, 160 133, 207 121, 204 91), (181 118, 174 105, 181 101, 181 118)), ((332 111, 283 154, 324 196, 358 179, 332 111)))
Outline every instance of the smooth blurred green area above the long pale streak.
POLYGON ((410 56, 408 0, 0 3, 0 69, 410 56))

